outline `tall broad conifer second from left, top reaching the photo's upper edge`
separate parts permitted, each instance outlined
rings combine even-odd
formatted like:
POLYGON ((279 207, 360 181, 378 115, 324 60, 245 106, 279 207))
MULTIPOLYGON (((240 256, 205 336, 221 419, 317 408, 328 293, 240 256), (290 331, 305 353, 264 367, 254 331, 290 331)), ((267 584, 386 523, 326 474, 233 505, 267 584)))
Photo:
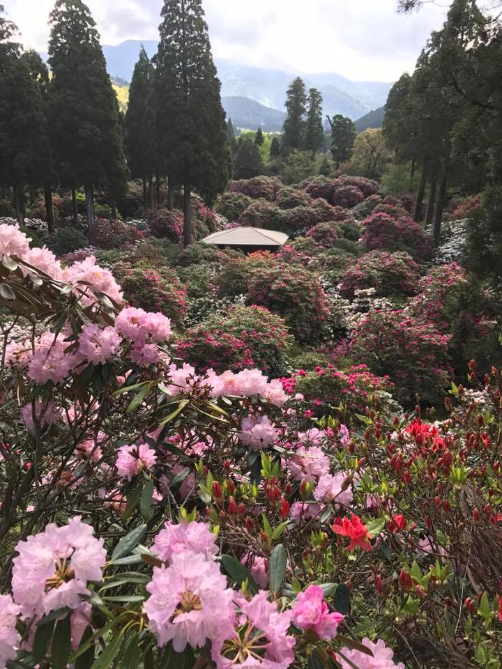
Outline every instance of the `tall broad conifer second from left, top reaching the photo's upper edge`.
POLYGON ((119 103, 96 23, 82 0, 56 0, 50 15, 49 124, 54 160, 75 187, 84 184, 89 236, 93 188, 115 198, 126 185, 119 103))

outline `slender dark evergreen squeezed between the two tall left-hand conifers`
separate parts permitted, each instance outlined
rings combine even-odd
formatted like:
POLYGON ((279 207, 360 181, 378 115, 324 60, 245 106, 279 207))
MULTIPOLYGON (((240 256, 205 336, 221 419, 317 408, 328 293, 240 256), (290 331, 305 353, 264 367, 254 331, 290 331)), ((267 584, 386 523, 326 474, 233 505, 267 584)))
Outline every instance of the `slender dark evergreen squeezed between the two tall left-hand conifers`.
POLYGON ((129 88, 126 112, 126 154, 130 174, 143 182, 143 199, 146 208, 146 182, 154 171, 151 146, 149 107, 153 104, 153 65, 142 45, 129 88))

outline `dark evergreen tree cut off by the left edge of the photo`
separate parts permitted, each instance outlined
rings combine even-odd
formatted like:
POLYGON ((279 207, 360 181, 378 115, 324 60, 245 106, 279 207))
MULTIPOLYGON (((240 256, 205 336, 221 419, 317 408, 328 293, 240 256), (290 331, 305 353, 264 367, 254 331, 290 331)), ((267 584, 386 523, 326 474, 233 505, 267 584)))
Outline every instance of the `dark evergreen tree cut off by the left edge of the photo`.
POLYGON ((40 93, 20 45, 15 25, 0 5, 0 183, 14 190, 17 220, 24 222, 24 186, 41 183, 50 155, 40 93))

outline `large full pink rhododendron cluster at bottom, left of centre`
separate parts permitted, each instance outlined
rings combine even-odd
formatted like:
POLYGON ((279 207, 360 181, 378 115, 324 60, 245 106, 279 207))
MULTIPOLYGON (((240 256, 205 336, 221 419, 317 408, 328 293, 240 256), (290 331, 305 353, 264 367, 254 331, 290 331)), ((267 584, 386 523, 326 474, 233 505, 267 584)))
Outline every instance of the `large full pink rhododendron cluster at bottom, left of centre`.
POLYGON ((160 645, 172 640, 179 653, 187 644, 202 647, 218 633, 226 636, 233 629, 233 591, 218 564, 202 553, 174 553, 169 567, 154 567, 146 590, 151 597, 144 611, 160 645))

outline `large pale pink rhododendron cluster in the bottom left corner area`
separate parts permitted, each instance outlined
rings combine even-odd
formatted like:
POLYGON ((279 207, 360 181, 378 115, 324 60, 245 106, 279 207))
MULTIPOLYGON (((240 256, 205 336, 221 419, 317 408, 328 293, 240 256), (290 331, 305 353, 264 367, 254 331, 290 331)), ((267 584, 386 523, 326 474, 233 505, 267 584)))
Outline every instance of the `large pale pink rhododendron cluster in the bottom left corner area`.
POLYGON ((93 536, 81 516, 58 528, 20 541, 13 560, 13 599, 22 615, 40 616, 59 608, 78 608, 89 594, 89 580, 101 580, 106 561, 103 540, 93 536))

